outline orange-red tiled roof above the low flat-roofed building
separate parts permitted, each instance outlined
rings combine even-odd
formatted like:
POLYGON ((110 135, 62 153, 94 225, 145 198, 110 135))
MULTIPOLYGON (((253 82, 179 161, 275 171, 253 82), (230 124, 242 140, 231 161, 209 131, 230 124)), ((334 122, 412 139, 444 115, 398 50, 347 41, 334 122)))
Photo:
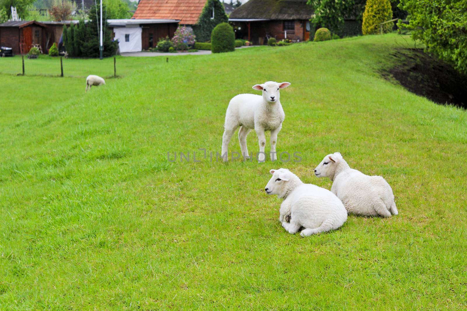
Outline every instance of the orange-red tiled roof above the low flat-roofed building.
POLYGON ((207 0, 141 0, 133 14, 135 19, 180 20, 182 25, 194 25, 207 0))

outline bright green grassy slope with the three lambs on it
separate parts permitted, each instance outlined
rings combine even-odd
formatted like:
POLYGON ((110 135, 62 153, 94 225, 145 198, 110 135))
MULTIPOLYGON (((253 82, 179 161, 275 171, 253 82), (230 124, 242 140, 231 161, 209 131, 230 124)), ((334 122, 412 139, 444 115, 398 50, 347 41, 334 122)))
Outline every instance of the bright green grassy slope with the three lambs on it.
POLYGON ((177 57, 1 128, 1 309, 465 308, 467 116, 375 74, 403 43, 177 57), (292 83, 277 146, 301 163, 167 161, 219 151, 229 99, 266 80, 292 83), (335 151, 400 214, 287 234, 269 169, 330 188, 312 169, 335 151))

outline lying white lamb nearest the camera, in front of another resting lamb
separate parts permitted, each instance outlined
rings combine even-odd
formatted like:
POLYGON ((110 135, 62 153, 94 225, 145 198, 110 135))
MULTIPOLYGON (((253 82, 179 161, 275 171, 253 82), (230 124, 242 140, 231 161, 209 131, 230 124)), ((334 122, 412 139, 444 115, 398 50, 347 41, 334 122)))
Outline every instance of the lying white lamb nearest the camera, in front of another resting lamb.
POLYGON ((304 184, 288 169, 270 170, 272 178, 264 188, 267 194, 283 198, 279 221, 291 234, 300 227, 301 236, 335 230, 347 220, 347 211, 342 202, 329 190, 304 184), (290 222, 288 222, 290 220, 290 222))

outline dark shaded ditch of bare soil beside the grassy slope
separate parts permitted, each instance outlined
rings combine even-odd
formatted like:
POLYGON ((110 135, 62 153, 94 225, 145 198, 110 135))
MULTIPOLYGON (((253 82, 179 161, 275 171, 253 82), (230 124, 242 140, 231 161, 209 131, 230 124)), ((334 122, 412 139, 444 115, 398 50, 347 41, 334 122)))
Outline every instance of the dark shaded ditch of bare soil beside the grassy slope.
POLYGON ((385 69, 382 76, 396 79, 410 92, 435 103, 467 109, 467 75, 422 49, 400 48, 391 57, 395 65, 385 69))

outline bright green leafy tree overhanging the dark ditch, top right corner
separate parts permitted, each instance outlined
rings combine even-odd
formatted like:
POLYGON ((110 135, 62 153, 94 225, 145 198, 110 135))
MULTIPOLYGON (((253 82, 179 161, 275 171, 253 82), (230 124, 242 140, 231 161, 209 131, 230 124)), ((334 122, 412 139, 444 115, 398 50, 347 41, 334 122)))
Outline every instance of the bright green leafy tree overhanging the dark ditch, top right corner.
POLYGON ((405 27, 425 51, 467 73, 467 0, 401 0, 399 7, 409 13, 405 27))

